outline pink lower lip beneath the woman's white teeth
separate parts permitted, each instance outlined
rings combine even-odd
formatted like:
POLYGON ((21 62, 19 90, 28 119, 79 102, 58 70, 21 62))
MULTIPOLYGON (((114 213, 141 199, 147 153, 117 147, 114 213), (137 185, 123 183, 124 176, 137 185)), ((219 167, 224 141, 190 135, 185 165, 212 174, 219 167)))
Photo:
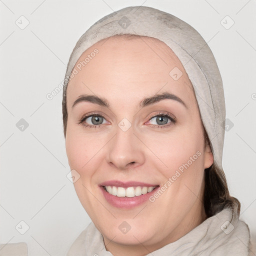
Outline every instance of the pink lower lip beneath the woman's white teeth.
POLYGON ((154 188, 151 192, 146 193, 146 194, 141 194, 138 196, 134 196, 134 197, 118 197, 116 195, 112 195, 109 194, 103 186, 99 186, 99 188, 101 189, 105 199, 107 200, 107 202, 109 202, 111 205, 117 207, 117 208, 124 208, 124 209, 128 209, 128 208, 132 208, 135 206, 138 206, 142 203, 144 203, 145 201, 148 201, 149 197, 155 193, 155 191, 157 190, 156 187, 154 188))

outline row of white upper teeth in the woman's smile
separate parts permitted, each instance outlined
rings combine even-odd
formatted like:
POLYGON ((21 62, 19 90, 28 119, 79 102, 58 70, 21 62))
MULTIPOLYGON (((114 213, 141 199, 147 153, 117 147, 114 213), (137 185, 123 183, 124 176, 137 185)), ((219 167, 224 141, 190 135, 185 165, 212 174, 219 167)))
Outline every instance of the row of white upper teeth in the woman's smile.
POLYGON ((151 192, 155 188, 155 186, 143 186, 142 188, 141 186, 130 186, 126 189, 120 186, 104 186, 104 188, 109 194, 116 195, 118 197, 134 197, 151 192))

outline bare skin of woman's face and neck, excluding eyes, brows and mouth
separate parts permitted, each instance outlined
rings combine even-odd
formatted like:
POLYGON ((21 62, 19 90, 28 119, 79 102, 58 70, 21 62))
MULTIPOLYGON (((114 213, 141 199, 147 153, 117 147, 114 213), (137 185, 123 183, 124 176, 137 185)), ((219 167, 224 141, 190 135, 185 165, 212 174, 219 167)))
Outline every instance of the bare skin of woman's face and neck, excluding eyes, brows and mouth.
MULTIPOLYGON (((129 40, 109 37, 88 48, 76 63, 94 48, 99 52, 67 87, 66 153, 70 168, 80 175, 75 191, 107 250, 113 255, 146 255, 205 220, 203 174, 213 156, 204 144, 191 82, 165 43, 146 36, 129 40), (169 75, 174 67, 182 71, 178 80, 169 75), (139 108, 143 98, 161 92, 175 94, 186 107, 163 99, 139 108), (109 107, 91 102, 72 107, 81 94, 104 97, 109 107), (100 127, 78 124, 83 115, 94 112, 104 117, 100 127), (168 112, 176 122, 159 127, 153 118, 159 112, 168 112), (123 118, 131 123, 125 132, 118 127, 123 118), (112 179, 162 186, 197 151, 200 156, 154 202, 120 209, 111 206, 98 187, 112 179), (123 221, 131 227, 125 234, 118 228, 123 221)), ((92 125, 91 117, 83 123, 92 125)))

